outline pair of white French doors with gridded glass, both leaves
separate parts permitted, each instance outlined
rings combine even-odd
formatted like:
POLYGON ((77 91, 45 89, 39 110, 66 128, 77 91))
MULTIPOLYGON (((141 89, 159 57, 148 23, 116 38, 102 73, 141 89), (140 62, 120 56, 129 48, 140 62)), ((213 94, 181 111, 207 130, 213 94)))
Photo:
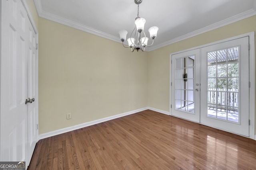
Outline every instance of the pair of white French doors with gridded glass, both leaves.
POLYGON ((249 37, 171 56, 171 115, 249 137, 249 37))

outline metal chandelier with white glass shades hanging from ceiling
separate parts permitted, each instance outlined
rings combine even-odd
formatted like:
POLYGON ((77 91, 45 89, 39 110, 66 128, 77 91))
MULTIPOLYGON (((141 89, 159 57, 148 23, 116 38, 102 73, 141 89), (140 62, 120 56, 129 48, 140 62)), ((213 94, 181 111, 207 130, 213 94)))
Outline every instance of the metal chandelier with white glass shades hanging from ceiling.
POLYGON ((124 41, 126 40, 127 31, 126 30, 120 30, 118 33, 120 35, 120 39, 122 41, 122 44, 125 48, 131 48, 131 51, 133 52, 134 49, 141 51, 145 51, 145 47, 151 46, 154 43, 154 39, 156 38, 158 27, 153 26, 148 29, 150 33, 150 38, 152 39, 152 44, 148 45, 148 37, 146 37, 146 34, 144 32, 144 25, 146 23, 146 20, 144 18, 140 18, 139 16, 139 4, 141 4, 142 0, 134 0, 134 3, 138 5, 138 14, 135 18, 135 27, 130 35, 130 38, 127 39, 128 41, 128 47, 124 46, 124 41), (132 35, 134 36, 132 37, 132 35))

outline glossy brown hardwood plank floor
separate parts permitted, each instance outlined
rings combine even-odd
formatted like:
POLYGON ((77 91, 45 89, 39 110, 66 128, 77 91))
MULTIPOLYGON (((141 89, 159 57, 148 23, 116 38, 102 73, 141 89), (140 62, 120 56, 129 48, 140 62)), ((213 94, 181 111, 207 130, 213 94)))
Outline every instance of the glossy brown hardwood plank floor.
POLYGON ((42 139, 29 170, 256 170, 256 141, 146 110, 42 139))

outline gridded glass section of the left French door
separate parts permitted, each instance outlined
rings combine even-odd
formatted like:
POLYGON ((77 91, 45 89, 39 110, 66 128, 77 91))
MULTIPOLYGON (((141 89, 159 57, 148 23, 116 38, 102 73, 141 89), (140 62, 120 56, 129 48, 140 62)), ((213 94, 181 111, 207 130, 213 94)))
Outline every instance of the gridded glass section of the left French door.
POLYGON ((175 109, 194 113, 194 56, 176 59, 175 64, 175 109))

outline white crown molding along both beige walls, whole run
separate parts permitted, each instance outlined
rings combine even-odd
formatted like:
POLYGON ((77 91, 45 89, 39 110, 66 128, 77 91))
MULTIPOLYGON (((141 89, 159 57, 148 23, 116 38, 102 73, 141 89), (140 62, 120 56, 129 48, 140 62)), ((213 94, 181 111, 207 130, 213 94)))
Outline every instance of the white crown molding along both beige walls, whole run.
MULTIPOLYGON (((119 37, 115 37, 115 36, 110 35, 108 33, 104 33, 102 31, 99 31, 97 29, 87 27, 86 25, 82 25, 80 23, 62 18, 60 16, 56 16, 56 15, 51 14, 49 12, 45 12, 44 10, 42 10, 41 0, 34 0, 34 2, 35 2, 35 5, 36 5, 38 16, 41 17, 41 18, 45 18, 47 20, 51 20, 51 21, 54 21, 54 22, 57 22, 57 23, 61 23, 63 25, 67 25, 67 26, 79 29, 81 31, 85 31, 85 32, 88 32, 88 33, 91 33, 91 34, 94 34, 94 35, 97 35, 97 36, 100 36, 100 37, 103 37, 103 38, 106 38, 106 39, 110 39, 112 41, 116 41, 118 43, 121 43, 119 37)), ((148 47, 146 49, 146 51, 153 51, 155 49, 164 47, 166 45, 170 45, 170 44, 176 43, 178 41, 182 41, 184 39, 188 39, 188 38, 194 37, 196 35, 200 35, 202 33, 208 32, 208 31, 212 31, 212 30, 217 29, 219 27, 223 27, 223 26, 228 25, 230 23, 234 23, 236 21, 240 21, 240 20, 243 20, 245 18, 249 18, 249 17, 254 16, 254 15, 256 15, 256 0, 254 0, 253 9, 251 9, 251 10, 248 10, 248 11, 243 12, 241 14, 238 14, 236 16, 232 16, 230 18, 227 18, 226 20, 219 21, 219 22, 214 23, 212 25, 208 25, 204 28, 198 29, 198 30, 193 31, 191 33, 182 35, 180 37, 176 37, 176 38, 171 39, 169 41, 166 41, 164 43, 160 43, 158 45, 148 47)))

